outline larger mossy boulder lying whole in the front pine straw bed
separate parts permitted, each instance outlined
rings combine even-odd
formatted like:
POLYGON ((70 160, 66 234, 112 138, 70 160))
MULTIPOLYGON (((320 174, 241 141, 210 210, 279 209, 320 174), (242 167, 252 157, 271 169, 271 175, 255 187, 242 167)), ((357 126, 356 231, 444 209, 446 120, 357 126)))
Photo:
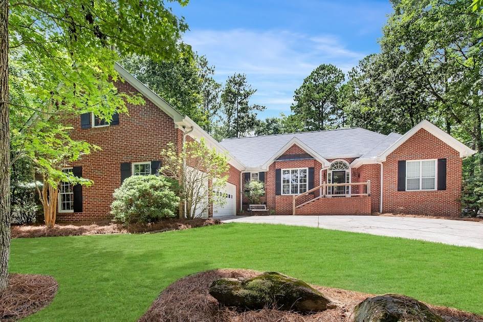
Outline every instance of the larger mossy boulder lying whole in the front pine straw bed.
POLYGON ((241 309, 319 312, 335 307, 309 284, 278 272, 265 272, 251 279, 219 279, 211 284, 209 292, 219 303, 241 309))

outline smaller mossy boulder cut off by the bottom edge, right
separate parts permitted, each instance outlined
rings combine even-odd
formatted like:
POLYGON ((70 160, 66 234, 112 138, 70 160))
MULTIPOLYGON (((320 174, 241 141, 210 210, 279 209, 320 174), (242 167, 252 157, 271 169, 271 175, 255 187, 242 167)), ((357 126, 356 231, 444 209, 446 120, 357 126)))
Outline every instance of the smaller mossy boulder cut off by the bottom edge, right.
POLYGON ((444 322, 424 303, 412 297, 386 294, 368 297, 354 309, 355 322, 444 322))

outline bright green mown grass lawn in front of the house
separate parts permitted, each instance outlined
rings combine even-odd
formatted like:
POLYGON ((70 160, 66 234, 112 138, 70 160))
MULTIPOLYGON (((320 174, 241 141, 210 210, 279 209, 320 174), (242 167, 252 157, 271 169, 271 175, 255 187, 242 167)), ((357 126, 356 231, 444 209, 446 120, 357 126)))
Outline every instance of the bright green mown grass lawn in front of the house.
POLYGON ((309 227, 237 223, 16 239, 10 263, 11 272, 59 282, 54 302, 27 320, 134 321, 166 286, 213 268, 277 270, 311 284, 402 293, 483 314, 483 250, 309 227))

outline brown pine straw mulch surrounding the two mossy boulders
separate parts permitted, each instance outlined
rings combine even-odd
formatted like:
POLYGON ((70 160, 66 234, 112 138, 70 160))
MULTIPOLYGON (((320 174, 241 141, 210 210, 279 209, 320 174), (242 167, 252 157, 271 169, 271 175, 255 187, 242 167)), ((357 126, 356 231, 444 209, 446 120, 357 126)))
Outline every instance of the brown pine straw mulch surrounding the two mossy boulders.
MULTIPOLYGON (((219 278, 252 278, 260 272, 244 269, 217 269, 190 275, 168 286, 153 302, 147 312, 139 319, 140 322, 347 322, 354 307, 367 296, 354 291, 346 291, 330 287, 312 285, 337 305, 313 314, 299 314, 291 311, 264 309, 258 311, 237 311, 234 308, 219 306, 208 293, 211 283, 219 278)), ((476 320, 483 317, 452 308, 431 306, 448 321, 476 320)))

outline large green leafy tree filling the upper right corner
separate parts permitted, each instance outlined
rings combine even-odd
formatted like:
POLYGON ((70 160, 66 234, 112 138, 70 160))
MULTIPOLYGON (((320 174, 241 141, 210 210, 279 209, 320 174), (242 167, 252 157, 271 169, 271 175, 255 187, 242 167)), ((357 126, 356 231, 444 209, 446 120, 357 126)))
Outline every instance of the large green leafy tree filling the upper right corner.
POLYGON ((398 57, 397 68, 404 67, 420 97, 433 102, 434 120, 482 153, 483 29, 468 7, 466 0, 394 3, 381 51, 398 57))

